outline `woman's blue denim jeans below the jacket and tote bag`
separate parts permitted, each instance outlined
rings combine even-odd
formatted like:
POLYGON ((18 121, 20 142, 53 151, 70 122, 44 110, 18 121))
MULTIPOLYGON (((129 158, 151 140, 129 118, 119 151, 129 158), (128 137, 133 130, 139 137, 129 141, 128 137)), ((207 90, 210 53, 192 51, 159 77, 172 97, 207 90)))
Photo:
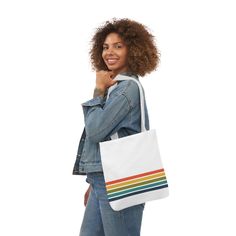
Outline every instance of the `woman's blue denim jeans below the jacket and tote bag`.
POLYGON ((88 173, 86 182, 92 188, 80 236, 139 236, 145 203, 114 211, 107 199, 103 173, 88 173))

